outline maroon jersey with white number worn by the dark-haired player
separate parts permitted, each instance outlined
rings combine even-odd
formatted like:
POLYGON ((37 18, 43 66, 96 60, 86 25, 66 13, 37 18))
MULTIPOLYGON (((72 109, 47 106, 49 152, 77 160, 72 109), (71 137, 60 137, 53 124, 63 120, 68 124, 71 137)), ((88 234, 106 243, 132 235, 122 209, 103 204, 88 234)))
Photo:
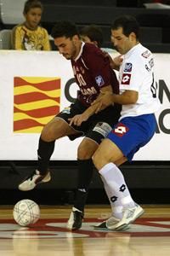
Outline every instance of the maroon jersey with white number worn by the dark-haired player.
POLYGON ((100 89, 111 85, 119 93, 116 73, 111 69, 110 60, 94 44, 82 43, 76 60, 71 60, 73 72, 79 86, 78 99, 89 107, 99 96, 100 89))

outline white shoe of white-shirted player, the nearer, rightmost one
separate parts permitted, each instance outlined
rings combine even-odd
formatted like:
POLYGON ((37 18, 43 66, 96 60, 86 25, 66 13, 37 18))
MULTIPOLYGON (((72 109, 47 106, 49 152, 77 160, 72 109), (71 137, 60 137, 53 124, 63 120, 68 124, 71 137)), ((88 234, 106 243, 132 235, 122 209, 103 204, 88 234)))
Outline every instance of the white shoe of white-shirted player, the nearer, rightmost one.
POLYGON ((144 209, 139 205, 135 204, 133 208, 127 208, 124 210, 122 219, 112 228, 116 231, 124 230, 126 227, 133 223, 135 219, 139 218, 144 213, 144 209))

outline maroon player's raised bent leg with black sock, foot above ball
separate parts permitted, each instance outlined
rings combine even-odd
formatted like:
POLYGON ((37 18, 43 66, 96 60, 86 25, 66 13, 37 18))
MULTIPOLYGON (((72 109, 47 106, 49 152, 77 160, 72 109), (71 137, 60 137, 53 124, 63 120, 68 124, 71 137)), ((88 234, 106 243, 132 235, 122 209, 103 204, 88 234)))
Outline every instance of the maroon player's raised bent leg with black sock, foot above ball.
POLYGON ((82 136, 83 132, 78 130, 79 127, 75 127, 75 125, 70 126, 70 121, 68 120, 75 114, 82 113, 82 111, 83 109, 80 103, 75 102, 70 107, 63 109, 62 112, 58 113, 54 119, 43 127, 37 149, 37 170, 20 183, 20 190, 31 190, 35 188, 37 183, 48 182, 50 180, 48 163, 54 152, 55 140, 65 136, 74 138, 82 136))

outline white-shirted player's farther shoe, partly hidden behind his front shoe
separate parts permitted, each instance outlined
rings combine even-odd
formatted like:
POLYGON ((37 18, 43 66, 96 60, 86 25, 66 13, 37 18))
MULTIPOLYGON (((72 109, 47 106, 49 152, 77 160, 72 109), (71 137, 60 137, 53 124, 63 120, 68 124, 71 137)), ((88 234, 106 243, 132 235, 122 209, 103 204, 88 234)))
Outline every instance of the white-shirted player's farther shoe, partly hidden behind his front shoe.
MULTIPOLYGON (((120 222, 119 218, 115 218, 114 216, 111 216, 110 218, 106 219, 102 223, 95 225, 94 230, 113 230, 113 226, 118 224, 120 222)), ((129 230, 130 225, 127 225, 125 229, 123 230, 129 230)))

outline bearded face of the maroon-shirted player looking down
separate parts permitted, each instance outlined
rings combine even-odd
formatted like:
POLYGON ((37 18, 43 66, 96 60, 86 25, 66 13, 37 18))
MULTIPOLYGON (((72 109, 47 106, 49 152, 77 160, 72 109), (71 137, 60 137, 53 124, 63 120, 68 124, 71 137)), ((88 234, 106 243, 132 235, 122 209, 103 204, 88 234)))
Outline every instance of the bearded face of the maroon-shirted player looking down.
POLYGON ((55 38, 54 44, 58 47, 59 53, 70 60, 77 55, 77 46, 72 38, 55 38))

